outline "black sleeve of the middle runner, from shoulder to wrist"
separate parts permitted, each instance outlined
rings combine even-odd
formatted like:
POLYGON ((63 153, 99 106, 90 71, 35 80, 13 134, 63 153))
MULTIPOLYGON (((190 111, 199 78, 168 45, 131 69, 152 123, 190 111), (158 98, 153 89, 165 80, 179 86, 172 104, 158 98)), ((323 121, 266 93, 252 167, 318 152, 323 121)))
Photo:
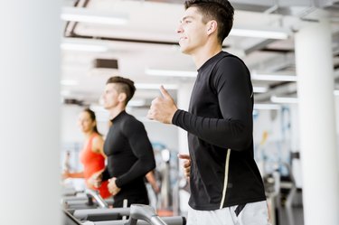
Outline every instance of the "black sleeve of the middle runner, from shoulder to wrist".
POLYGON ((146 173, 155 168, 153 148, 144 125, 137 120, 128 120, 123 127, 124 135, 128 137, 129 145, 133 154, 137 157, 137 162, 133 164, 127 173, 117 178, 116 184, 118 187, 130 183, 138 177, 145 176, 146 173))

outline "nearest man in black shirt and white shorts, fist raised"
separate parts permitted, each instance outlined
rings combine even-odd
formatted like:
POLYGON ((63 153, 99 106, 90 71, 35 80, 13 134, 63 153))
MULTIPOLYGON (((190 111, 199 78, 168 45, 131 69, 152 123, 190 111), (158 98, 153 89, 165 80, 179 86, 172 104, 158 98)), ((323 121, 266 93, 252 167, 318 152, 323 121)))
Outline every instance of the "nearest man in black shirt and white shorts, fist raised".
POLYGON ((250 72, 238 57, 221 51, 233 7, 227 0, 184 5, 179 44, 198 70, 189 111, 176 108, 161 87, 163 97, 153 100, 147 117, 188 132, 189 225, 266 225, 266 196, 253 159, 250 72))

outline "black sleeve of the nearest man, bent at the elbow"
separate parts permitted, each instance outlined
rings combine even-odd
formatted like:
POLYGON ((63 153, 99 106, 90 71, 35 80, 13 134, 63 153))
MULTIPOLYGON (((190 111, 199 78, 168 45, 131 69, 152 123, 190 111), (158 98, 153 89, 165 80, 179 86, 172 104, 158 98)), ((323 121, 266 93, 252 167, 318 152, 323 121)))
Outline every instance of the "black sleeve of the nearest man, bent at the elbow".
POLYGON ((199 117, 178 109, 172 123, 202 140, 223 148, 244 150, 252 142, 252 86, 250 72, 236 57, 225 57, 212 72, 221 118, 199 117))

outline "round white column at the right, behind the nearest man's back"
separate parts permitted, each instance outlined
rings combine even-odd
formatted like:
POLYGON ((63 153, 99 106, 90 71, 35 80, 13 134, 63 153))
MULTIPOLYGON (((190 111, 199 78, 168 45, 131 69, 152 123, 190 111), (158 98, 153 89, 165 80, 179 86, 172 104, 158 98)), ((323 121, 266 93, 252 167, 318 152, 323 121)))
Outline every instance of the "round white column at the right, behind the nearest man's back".
POLYGON ((296 33, 297 93, 306 225, 339 224, 338 157, 330 24, 296 33))

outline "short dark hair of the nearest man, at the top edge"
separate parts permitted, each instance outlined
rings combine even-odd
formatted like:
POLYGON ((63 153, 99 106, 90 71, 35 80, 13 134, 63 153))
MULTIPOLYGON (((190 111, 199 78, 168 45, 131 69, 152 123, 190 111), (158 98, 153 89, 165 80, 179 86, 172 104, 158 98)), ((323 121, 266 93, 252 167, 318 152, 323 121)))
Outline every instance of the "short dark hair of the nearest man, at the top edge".
POLYGON ((196 7, 202 14, 202 22, 216 20, 218 23, 218 40, 223 40, 231 32, 233 26, 234 8, 227 0, 185 0, 184 8, 196 7))

